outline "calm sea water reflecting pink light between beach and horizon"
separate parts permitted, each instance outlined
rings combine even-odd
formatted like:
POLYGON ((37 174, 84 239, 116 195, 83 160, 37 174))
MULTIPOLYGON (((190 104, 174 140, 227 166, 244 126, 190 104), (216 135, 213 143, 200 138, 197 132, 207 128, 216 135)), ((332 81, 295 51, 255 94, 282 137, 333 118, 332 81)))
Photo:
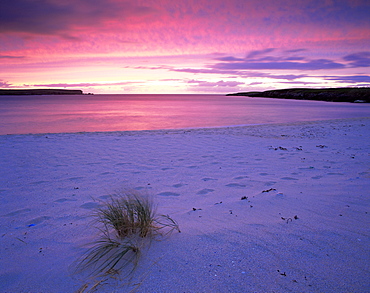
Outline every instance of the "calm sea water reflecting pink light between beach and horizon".
POLYGON ((369 116, 370 104, 221 95, 0 96, 0 134, 174 129, 369 116))

